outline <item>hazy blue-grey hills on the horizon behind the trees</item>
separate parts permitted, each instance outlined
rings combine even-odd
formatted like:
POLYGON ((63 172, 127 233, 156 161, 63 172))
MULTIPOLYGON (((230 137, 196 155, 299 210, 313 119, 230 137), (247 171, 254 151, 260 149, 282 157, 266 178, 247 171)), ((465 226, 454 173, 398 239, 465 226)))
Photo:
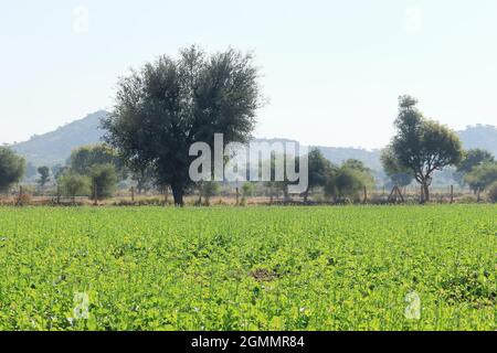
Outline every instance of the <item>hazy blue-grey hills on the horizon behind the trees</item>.
MULTIPOLYGON (((71 151, 85 145, 98 143, 104 131, 101 130, 99 120, 107 111, 99 110, 83 119, 67 124, 55 131, 41 136, 33 136, 29 141, 17 143, 12 149, 23 156, 33 165, 54 165, 65 163, 71 151)), ((484 148, 497 156, 497 128, 489 125, 476 125, 457 132, 464 148, 484 148)), ((292 141, 287 139, 264 139, 267 142, 292 141)), ((372 170, 382 170, 380 150, 366 150, 360 148, 325 147, 318 146, 322 154, 334 163, 341 163, 347 159, 361 160, 372 170)))

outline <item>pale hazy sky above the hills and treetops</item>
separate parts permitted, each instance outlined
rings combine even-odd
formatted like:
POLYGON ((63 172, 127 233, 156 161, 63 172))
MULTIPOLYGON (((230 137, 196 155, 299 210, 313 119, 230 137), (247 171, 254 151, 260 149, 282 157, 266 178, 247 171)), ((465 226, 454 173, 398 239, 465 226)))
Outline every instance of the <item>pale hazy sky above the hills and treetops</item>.
POLYGON ((257 137, 381 147, 401 94, 497 125, 495 0, 2 0, 0 143, 110 108, 118 76, 190 44, 255 52, 257 137))

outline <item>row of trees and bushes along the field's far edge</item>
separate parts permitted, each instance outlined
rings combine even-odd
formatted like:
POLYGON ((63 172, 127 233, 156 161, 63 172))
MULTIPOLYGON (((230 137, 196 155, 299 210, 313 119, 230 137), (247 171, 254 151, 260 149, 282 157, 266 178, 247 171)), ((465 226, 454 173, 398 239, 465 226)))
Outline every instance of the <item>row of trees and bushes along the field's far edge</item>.
MULTIPOLYGON (((190 146, 204 142, 212 150, 214 133, 223 133, 223 148, 230 142, 247 142, 256 110, 264 101, 258 77, 253 56, 233 49, 208 54, 191 46, 180 51, 178 58, 165 55, 147 63, 118 83, 114 110, 102 121, 107 145, 74 151, 55 179, 73 197, 87 192, 98 200, 110 195, 118 180, 129 176, 138 192, 170 186, 175 204, 183 205, 184 193, 195 186, 189 178, 195 158, 189 156, 190 146)), ((447 165, 457 165, 461 179, 478 196, 496 181, 494 158, 480 150, 463 151, 456 133, 425 118, 415 98, 399 98, 394 126, 395 135, 381 158, 384 170, 395 185, 415 180, 423 202, 430 201, 433 174, 447 165)), ((25 167, 9 150, 1 152, 0 189, 4 189, 25 167)), ((361 190, 373 185, 371 171, 360 161, 334 165, 318 150, 309 152, 308 161, 305 202, 316 188, 328 199, 340 201, 358 199, 361 190)), ((39 173, 43 189, 49 169, 40 168, 39 173)), ((281 190, 288 199, 288 184, 271 182, 267 188, 281 190)), ((213 185, 197 185, 200 197, 209 199, 215 191, 213 185)))

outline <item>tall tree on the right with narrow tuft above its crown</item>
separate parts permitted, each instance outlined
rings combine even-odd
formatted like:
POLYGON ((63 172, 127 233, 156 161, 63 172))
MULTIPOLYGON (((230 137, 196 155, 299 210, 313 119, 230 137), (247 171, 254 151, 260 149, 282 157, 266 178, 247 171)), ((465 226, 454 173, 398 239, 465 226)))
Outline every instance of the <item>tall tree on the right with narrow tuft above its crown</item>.
POLYGON ((396 133, 389 148, 396 163, 422 185, 423 201, 430 201, 433 172, 461 161, 462 145, 447 127, 423 117, 411 96, 399 97, 396 133))

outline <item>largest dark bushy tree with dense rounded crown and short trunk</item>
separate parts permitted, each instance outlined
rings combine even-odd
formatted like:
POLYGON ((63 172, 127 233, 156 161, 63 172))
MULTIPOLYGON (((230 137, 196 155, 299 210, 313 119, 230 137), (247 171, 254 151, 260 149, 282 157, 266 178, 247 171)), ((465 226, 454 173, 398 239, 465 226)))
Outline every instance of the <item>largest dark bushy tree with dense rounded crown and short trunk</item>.
POLYGON ((258 69, 250 54, 230 49, 208 55, 197 46, 178 58, 160 56, 118 83, 114 111, 103 121, 106 141, 124 160, 151 165, 175 203, 192 181, 190 146, 246 142, 261 106, 258 69), (138 161, 138 162, 137 162, 138 161))

